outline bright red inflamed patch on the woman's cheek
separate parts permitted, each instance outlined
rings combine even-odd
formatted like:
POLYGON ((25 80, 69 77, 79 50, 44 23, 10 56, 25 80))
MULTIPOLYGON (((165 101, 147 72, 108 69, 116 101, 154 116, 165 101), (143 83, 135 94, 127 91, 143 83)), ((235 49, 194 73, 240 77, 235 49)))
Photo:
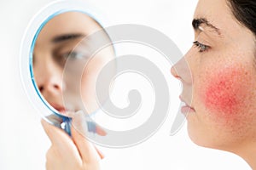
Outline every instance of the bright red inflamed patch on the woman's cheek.
POLYGON ((207 81, 205 105, 211 111, 221 115, 234 115, 245 107, 247 95, 247 74, 243 69, 226 69, 215 72, 207 81))

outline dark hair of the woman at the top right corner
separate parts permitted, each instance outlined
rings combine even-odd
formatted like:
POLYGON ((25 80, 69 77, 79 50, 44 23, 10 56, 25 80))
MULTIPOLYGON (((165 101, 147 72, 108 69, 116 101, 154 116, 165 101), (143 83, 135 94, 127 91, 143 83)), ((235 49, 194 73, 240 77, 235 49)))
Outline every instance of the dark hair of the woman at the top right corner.
POLYGON ((232 13, 256 37, 256 0, 227 0, 232 13))

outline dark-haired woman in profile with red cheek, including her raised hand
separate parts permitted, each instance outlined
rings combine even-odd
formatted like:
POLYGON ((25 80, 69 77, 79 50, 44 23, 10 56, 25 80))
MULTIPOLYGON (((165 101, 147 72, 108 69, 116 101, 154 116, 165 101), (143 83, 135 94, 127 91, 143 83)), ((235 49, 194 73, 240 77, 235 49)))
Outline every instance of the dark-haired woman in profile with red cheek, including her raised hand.
MULTIPOLYGON (((183 82, 180 98, 187 104, 182 111, 187 114, 189 137, 195 144, 233 152, 253 169, 256 169, 255 19, 253 0, 199 0, 193 20, 194 46, 172 67, 172 75, 183 82)), ((45 122, 43 126, 56 143, 48 160, 56 159, 61 169, 98 168, 96 152, 90 150, 90 143, 79 134, 75 133, 72 140, 45 122), (66 160, 70 154, 63 150, 62 142, 68 146, 67 151, 77 153, 69 162, 66 160)))

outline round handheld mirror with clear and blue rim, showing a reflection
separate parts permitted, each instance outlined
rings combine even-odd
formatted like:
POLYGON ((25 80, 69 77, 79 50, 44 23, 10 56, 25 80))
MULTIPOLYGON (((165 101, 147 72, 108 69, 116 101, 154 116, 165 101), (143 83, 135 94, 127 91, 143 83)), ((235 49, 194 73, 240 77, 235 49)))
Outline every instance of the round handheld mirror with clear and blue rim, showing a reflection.
POLYGON ((21 46, 20 72, 43 118, 70 134, 69 114, 99 109, 96 79, 114 53, 111 45, 97 49, 111 41, 95 11, 68 2, 51 4, 34 19, 21 46))

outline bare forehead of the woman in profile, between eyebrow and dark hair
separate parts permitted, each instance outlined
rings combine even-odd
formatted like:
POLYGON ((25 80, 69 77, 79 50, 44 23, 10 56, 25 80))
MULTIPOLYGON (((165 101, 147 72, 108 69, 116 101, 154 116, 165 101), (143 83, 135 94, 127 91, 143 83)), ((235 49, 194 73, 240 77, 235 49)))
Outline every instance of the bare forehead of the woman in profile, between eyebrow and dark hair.
POLYGON ((213 26, 218 27, 227 43, 238 45, 238 42, 253 40, 253 33, 236 20, 227 0, 199 0, 194 18, 206 18, 213 26))

